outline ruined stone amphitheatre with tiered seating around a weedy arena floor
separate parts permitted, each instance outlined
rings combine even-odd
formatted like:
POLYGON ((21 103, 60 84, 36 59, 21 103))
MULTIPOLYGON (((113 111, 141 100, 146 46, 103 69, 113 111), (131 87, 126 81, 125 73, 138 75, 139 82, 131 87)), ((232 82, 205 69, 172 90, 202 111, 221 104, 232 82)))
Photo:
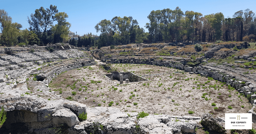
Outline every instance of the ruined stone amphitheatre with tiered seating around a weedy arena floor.
POLYGON ((252 113, 255 123, 256 74, 252 68, 256 67, 241 65, 256 61, 256 53, 233 57, 220 53, 223 48, 248 48, 249 44, 212 44, 201 56, 186 52, 187 45, 191 44, 135 44, 92 51, 61 44, 0 48, 0 106, 7 117, 0 132, 180 134, 207 130, 229 133, 225 130, 223 113, 236 111, 227 109, 228 105, 252 113), (152 55, 156 53, 154 50, 167 47, 175 47, 168 56, 152 55), (120 54, 121 51, 130 52, 120 54), (235 58, 234 64, 210 62, 228 56, 235 58), (248 70, 252 73, 244 73, 248 70), (213 85, 207 86, 209 83, 213 85), (201 97, 201 90, 211 99, 201 97), (187 95, 190 92, 194 92, 192 96, 187 95), (220 94, 236 98, 227 101, 220 94), (136 101, 143 103, 138 106, 136 101), (179 106, 181 103, 175 101, 187 102, 179 106), (218 101, 222 102, 218 104, 219 111, 225 107, 224 111, 194 106, 200 103, 202 107, 211 107, 211 103, 218 101), (130 106, 132 102, 134 106, 130 106), (236 107, 239 103, 246 105, 246 109, 236 107), (157 107, 159 111, 149 107, 157 107), (142 111, 149 115, 140 117, 142 111), (87 118, 83 119, 85 115, 87 118))

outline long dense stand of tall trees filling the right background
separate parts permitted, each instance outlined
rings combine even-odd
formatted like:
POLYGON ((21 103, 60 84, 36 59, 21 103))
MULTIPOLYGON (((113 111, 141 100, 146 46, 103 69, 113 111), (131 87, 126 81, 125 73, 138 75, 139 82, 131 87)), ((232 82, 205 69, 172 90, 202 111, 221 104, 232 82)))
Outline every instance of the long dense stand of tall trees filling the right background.
POLYGON ((232 18, 213 13, 181 11, 169 8, 151 11, 146 24, 149 40, 152 42, 215 42, 252 41, 255 42, 255 13, 250 9, 234 13, 232 18))

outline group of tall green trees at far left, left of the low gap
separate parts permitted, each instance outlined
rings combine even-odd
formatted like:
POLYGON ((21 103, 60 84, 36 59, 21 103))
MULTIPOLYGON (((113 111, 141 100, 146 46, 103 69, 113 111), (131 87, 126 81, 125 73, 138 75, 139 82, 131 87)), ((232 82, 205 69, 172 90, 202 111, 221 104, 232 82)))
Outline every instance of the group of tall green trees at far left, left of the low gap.
POLYGON ((2 45, 28 45, 62 43, 68 41, 71 24, 67 22, 68 15, 59 12, 57 6, 40 7, 28 17, 29 28, 21 30, 22 25, 12 22, 12 18, 4 9, 0 9, 0 29, 2 45), (57 21, 57 24, 53 23, 57 21))

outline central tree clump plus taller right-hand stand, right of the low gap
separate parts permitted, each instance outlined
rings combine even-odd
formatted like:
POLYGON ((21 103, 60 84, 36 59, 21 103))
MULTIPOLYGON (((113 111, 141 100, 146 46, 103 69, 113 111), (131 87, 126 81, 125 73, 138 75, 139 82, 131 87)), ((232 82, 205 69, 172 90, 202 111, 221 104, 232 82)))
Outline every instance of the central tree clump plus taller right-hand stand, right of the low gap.
POLYGON ((202 15, 194 11, 185 13, 176 7, 151 11, 148 15, 149 32, 139 28, 132 17, 114 17, 101 20, 95 29, 101 32, 98 46, 128 43, 156 42, 216 42, 256 40, 256 18, 250 9, 234 13, 232 18, 224 18, 223 13, 202 15))

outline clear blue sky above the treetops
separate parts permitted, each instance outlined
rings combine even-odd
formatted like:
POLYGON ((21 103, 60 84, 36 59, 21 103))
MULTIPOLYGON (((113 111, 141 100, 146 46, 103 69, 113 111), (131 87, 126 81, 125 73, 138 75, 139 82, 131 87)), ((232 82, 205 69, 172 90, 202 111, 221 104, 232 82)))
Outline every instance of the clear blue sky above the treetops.
POLYGON ((169 8, 174 10, 177 6, 185 11, 200 12, 204 15, 222 12, 225 18, 239 10, 249 8, 256 12, 255 0, 0 0, 0 9, 4 9, 12 17, 13 22, 23 25, 22 29, 28 28, 27 16, 35 13, 35 9, 41 6, 50 8, 56 5, 59 12, 66 12, 69 16, 67 21, 71 23, 70 30, 79 35, 96 33, 94 26, 101 20, 111 20, 115 16, 132 16, 137 19, 139 26, 144 27, 149 22, 147 16, 152 10, 169 8))

